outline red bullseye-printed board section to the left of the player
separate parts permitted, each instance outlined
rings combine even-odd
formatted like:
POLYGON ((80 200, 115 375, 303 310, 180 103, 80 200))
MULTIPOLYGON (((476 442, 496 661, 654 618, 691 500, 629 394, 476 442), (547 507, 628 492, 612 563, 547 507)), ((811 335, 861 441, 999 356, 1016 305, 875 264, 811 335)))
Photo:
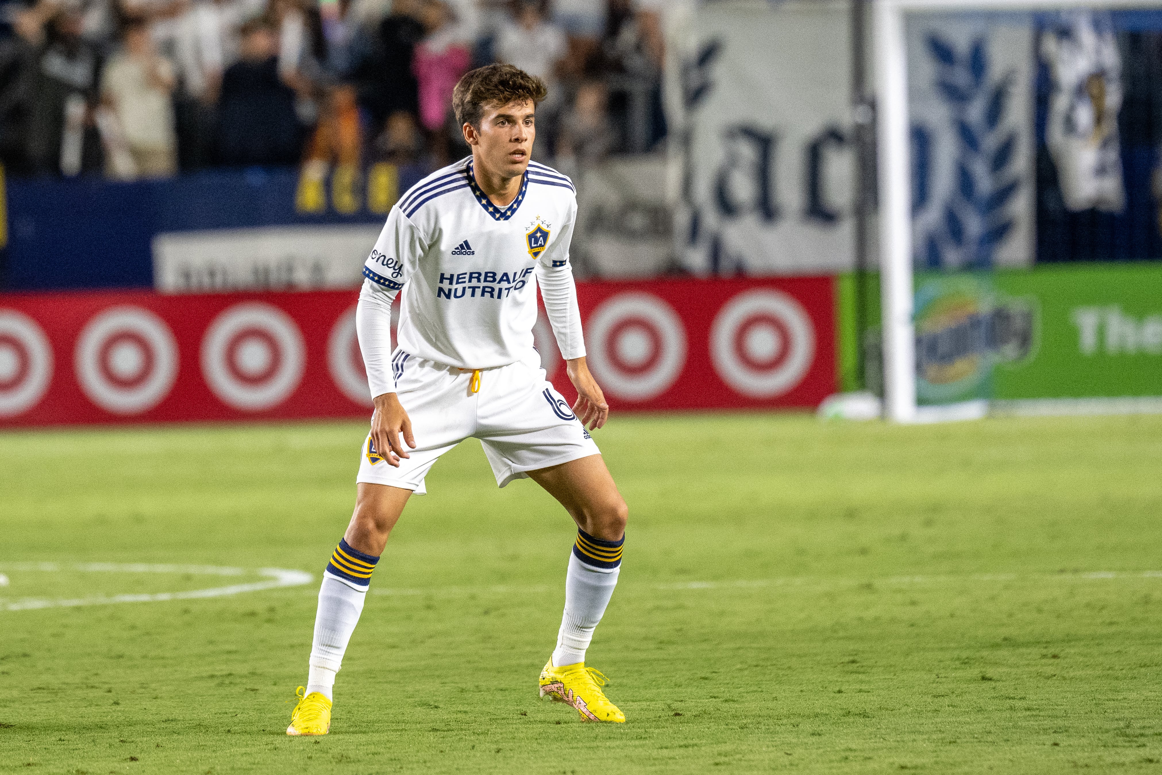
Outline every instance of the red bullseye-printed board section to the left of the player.
POLYGON ((0 297, 0 422, 366 414, 352 292, 0 297))

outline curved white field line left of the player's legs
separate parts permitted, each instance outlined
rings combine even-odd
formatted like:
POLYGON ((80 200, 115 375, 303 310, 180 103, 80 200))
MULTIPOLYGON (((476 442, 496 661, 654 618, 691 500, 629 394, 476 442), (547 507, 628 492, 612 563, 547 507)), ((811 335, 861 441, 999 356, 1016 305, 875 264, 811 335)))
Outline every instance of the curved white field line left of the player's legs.
POLYGON ((58 571, 79 571, 83 573, 162 573, 214 576, 241 576, 246 575, 248 573, 254 573, 266 579, 266 581, 254 581, 251 583, 230 584, 228 587, 210 587, 208 589, 188 589, 174 593, 93 595, 88 597, 73 598, 29 597, 13 602, 0 598, 0 610, 3 611, 29 611, 42 608, 76 608, 78 605, 109 605, 113 603, 162 603, 174 600, 227 597, 230 595, 261 591, 264 589, 277 589, 279 587, 297 587, 301 584, 308 584, 314 580, 314 576, 304 571, 288 571, 286 568, 259 568, 258 571, 245 571, 243 568, 218 567, 213 565, 142 565, 116 562, 60 565, 58 562, 2 562, 0 564, 0 568, 16 573, 31 571, 43 571, 49 573, 58 571))

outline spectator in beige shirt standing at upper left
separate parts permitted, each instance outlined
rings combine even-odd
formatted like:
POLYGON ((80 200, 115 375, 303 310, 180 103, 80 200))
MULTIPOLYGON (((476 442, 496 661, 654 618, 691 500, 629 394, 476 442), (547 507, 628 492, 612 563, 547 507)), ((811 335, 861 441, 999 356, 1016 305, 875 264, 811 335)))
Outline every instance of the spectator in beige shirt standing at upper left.
MULTIPOLYGON (((165 178, 177 172, 177 137, 171 94, 177 84, 173 63, 158 55, 142 20, 127 21, 122 48, 105 65, 101 101, 112 110, 116 129, 99 123, 108 149, 110 132, 120 132, 131 164, 107 151, 107 174, 122 180, 165 178)), ((120 149, 119 149, 120 150, 120 149)))

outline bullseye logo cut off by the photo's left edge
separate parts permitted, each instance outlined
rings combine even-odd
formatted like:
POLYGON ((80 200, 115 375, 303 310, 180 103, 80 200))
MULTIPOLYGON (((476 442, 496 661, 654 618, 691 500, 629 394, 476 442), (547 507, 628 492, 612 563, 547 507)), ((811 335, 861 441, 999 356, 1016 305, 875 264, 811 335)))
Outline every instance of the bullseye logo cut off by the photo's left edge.
POLYGON ((35 407, 52 381, 52 347, 36 322, 0 309, 0 417, 35 407))

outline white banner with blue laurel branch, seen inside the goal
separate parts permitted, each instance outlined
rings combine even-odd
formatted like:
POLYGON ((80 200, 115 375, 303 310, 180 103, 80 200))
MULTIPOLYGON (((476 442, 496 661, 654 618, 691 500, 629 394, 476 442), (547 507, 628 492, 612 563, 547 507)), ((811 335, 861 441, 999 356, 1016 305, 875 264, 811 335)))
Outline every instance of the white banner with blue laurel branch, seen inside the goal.
POLYGON ((1034 62, 1027 14, 909 16, 917 268, 1033 264, 1034 62))

